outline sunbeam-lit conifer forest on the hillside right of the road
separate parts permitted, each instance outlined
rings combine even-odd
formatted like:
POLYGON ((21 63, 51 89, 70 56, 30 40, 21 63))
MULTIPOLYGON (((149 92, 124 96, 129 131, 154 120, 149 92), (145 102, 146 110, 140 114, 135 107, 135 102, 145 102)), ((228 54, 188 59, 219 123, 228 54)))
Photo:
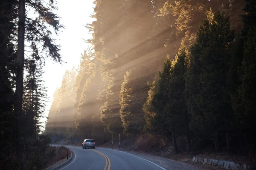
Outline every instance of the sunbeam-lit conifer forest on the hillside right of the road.
POLYGON ((94 4, 91 48, 54 94, 53 141, 153 135, 176 152, 177 136, 189 151, 255 143, 254 0, 94 4))

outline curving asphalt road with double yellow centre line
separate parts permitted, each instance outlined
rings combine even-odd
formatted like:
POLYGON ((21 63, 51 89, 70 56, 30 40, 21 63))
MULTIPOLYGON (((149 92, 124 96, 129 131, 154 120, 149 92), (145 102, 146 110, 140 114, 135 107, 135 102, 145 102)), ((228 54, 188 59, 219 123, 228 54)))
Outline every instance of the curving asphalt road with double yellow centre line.
POLYGON ((61 170, 166 170, 151 161, 118 150, 68 148, 75 153, 75 159, 61 170))

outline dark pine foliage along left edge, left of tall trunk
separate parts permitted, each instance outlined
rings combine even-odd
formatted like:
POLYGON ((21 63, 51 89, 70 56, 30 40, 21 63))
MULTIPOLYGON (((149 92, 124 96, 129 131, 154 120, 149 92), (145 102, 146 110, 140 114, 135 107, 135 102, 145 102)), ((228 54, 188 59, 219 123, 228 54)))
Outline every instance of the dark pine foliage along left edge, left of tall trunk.
MULTIPOLYGON (((12 33, 15 31, 13 20, 17 13, 16 0, 0 1, 0 147, 2 153, 0 164, 8 169, 6 156, 13 154, 15 148, 15 42, 12 33), (14 13, 14 14, 13 14, 14 13)), ((15 158, 14 158, 15 160, 15 158)), ((17 165, 13 163, 14 165, 17 165)))

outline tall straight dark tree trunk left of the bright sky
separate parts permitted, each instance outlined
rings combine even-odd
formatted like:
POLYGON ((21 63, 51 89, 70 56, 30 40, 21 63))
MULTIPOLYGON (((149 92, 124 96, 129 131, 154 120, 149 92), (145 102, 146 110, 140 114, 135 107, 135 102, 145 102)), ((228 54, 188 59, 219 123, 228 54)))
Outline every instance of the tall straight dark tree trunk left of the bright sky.
POLYGON ((18 51, 16 70, 16 107, 15 107, 15 148, 18 158, 22 154, 20 148, 20 120, 22 116, 24 41, 25 41, 25 0, 19 0, 18 51))

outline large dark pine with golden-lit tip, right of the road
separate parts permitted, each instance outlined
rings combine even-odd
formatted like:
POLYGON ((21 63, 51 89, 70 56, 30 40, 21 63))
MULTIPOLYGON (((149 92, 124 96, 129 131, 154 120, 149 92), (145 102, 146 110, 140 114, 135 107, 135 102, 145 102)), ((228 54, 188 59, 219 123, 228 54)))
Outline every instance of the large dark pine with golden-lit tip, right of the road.
POLYGON ((197 35, 191 49, 186 82, 192 115, 190 126, 201 133, 211 134, 216 150, 219 149, 218 137, 225 132, 229 150, 229 133, 234 118, 228 86, 230 43, 234 39, 229 18, 220 12, 207 11, 197 35))

